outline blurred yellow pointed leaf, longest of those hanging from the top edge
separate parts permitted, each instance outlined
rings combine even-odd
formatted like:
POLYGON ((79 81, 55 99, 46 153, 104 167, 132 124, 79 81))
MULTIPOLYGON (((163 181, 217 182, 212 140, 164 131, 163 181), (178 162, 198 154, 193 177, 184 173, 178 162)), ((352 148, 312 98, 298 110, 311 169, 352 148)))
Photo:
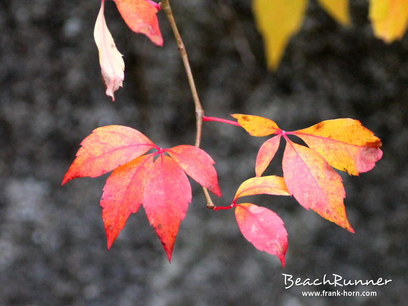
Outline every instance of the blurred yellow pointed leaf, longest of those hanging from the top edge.
POLYGON ((279 65, 290 37, 300 28, 307 4, 308 0, 253 0, 269 69, 279 65))

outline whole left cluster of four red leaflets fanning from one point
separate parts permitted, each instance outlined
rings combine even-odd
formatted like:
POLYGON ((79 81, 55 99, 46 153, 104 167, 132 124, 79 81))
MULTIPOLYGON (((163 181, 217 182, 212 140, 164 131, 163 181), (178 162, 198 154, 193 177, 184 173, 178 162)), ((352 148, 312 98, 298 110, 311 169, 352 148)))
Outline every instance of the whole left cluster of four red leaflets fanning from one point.
POLYGON ((77 177, 114 170, 100 200, 108 249, 130 214, 143 205, 170 261, 180 222, 191 201, 185 172, 221 195, 214 161, 200 148, 181 145, 161 149, 139 131, 121 125, 98 127, 81 146, 62 185, 77 177), (156 151, 143 155, 150 149, 156 151))

